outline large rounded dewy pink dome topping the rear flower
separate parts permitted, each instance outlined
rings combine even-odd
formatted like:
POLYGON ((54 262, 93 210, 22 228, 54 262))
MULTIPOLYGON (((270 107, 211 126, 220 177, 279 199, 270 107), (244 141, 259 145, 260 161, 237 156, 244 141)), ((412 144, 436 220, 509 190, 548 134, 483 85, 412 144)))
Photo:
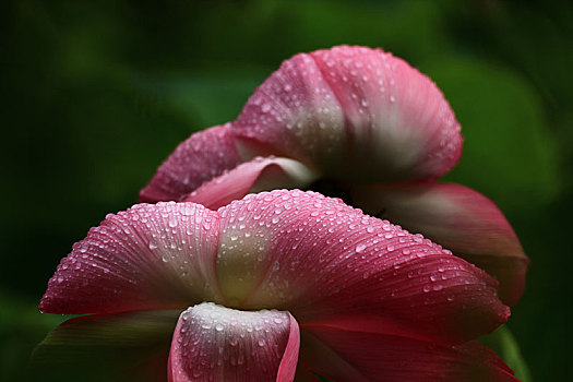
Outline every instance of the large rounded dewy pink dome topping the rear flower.
POLYGON ((232 123, 239 142, 362 182, 439 178, 459 124, 426 75, 380 49, 341 46, 283 62, 232 123))

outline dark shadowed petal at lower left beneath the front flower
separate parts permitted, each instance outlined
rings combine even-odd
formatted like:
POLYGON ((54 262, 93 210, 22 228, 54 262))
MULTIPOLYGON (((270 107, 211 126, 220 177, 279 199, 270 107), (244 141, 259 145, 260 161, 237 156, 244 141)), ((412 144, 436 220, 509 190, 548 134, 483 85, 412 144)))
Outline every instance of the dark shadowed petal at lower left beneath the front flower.
POLYGON ((169 346, 179 314, 151 310, 68 320, 34 350, 29 380, 167 381, 169 346))

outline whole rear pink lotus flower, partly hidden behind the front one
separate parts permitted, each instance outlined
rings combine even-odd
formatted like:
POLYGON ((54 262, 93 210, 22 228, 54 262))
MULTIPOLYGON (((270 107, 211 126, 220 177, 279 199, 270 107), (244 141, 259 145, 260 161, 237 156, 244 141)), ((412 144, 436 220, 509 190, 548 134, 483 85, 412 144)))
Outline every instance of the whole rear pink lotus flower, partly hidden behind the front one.
POLYGON ((216 208, 263 190, 334 190, 494 275, 513 306, 528 259, 512 227, 480 193, 435 182, 459 159, 459 130, 440 89, 399 58, 348 46, 300 53, 237 120, 181 143, 141 200, 216 208))

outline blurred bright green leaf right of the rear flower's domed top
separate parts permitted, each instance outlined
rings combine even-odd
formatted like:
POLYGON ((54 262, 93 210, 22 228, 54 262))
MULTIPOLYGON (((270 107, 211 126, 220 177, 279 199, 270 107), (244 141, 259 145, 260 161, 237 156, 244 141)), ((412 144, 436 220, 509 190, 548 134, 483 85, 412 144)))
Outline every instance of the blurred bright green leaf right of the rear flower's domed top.
POLYGON ((522 213, 556 198, 561 186, 557 145, 527 82, 476 59, 438 59, 427 72, 452 104, 465 138, 462 160, 446 180, 522 213))

